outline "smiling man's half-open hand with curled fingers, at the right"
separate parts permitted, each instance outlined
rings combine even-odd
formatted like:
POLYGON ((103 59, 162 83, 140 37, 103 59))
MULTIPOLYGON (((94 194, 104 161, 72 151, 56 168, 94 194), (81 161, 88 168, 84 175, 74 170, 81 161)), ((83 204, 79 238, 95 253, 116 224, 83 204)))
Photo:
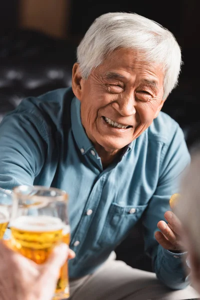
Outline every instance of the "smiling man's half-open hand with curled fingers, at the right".
POLYGON ((157 223, 157 227, 161 231, 155 232, 157 242, 167 250, 182 250, 183 245, 180 241, 182 226, 179 219, 172 211, 166 211, 164 217, 168 223, 165 221, 159 221, 157 223))

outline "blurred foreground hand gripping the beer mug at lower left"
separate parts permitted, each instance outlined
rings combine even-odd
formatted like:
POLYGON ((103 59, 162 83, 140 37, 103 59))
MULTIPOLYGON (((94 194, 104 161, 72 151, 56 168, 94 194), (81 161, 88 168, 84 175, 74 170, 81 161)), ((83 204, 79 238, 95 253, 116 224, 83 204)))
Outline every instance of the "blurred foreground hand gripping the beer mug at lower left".
POLYGON ((45 263, 36 264, 0 241, 0 300, 51 300, 67 256, 74 253, 60 244, 45 263))

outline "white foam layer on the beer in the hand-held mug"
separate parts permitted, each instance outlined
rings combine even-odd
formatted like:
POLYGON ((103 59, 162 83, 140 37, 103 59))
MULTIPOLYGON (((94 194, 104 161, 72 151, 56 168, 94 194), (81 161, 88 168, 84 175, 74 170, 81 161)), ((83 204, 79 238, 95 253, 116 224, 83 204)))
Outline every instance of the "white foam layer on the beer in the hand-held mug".
POLYGON ((65 225, 60 218, 47 215, 22 215, 15 220, 12 220, 10 227, 36 232, 54 231, 59 229, 64 229, 65 232, 65 227, 69 232, 70 229, 69 225, 65 225))

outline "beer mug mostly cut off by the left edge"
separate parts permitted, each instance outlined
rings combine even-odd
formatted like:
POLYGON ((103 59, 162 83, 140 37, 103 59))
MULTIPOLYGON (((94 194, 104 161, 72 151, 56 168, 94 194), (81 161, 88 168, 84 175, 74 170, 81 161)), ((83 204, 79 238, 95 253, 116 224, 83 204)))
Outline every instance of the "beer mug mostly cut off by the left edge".
POLYGON ((0 239, 3 238, 7 228, 12 209, 11 194, 0 188, 0 239))

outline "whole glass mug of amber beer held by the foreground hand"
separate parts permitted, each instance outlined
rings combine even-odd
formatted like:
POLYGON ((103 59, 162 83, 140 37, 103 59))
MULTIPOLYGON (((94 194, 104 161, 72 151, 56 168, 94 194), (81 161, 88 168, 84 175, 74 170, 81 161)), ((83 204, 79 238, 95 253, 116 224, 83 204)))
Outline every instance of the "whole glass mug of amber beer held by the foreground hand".
MULTIPOLYGON (((10 246, 41 264, 55 245, 69 244, 67 194, 57 188, 20 185, 13 189, 10 246)), ((53 300, 69 297, 67 261, 60 275, 53 300)))

